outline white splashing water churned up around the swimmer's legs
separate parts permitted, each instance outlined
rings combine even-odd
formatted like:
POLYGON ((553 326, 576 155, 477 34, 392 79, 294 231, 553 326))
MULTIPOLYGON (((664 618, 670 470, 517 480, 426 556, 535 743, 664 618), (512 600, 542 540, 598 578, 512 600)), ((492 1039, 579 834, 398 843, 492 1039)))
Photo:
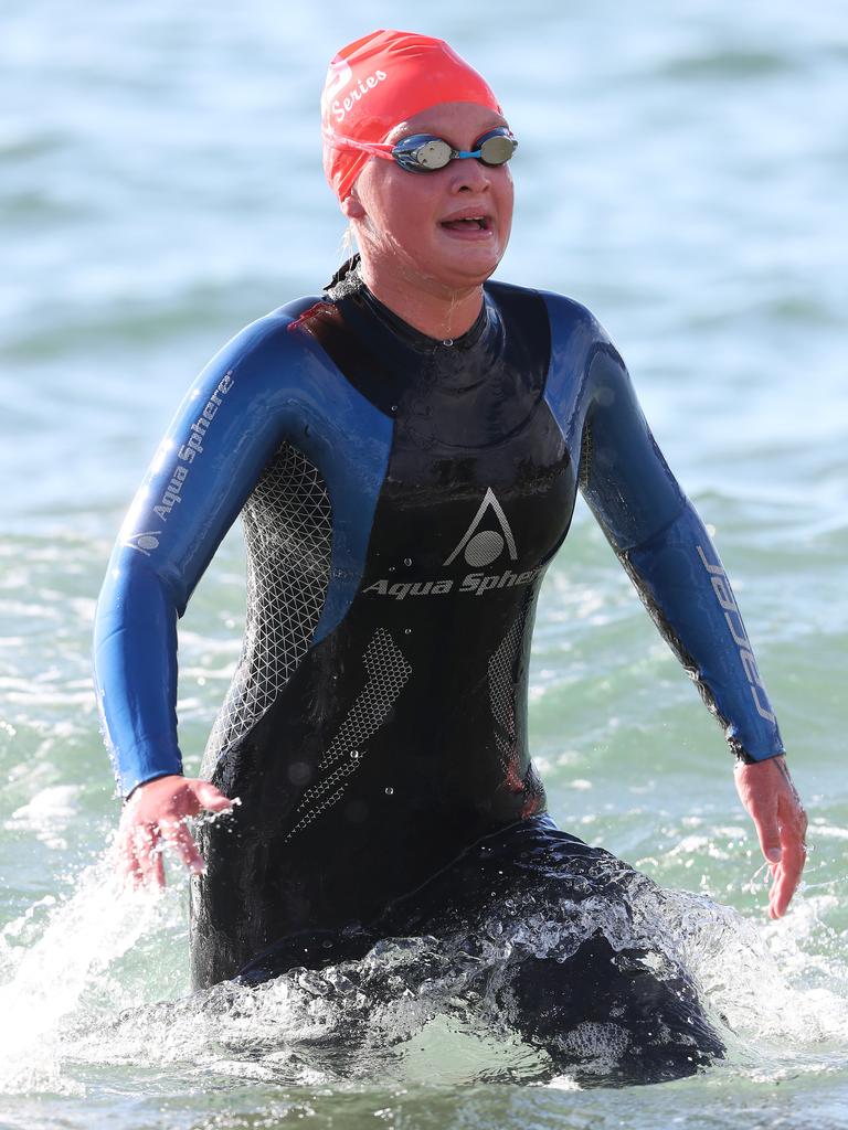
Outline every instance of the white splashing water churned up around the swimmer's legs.
MULTIPOLYGON (((806 946, 815 937, 821 950, 828 930, 821 899, 791 923, 755 925, 706 896, 638 885, 632 913, 595 897, 560 907, 528 897, 473 935, 386 939, 320 972, 182 997, 175 984, 178 999, 149 1003, 144 979, 127 976, 131 951, 156 959, 184 946, 183 895, 122 893, 103 860, 67 902, 43 899, 2 933, 0 1003, 14 1023, 0 1035, 0 1090, 81 1094, 88 1072, 115 1066, 159 1080, 188 1072, 326 1086, 438 1074, 576 1086, 522 1041, 502 989, 517 963, 562 960, 598 927, 615 949, 650 944, 660 975, 678 963, 691 971, 728 1050, 715 1072, 779 1079, 843 1066, 843 963, 806 946)), ((582 1024, 563 1041, 602 1079, 622 1053, 615 1023, 582 1024)))

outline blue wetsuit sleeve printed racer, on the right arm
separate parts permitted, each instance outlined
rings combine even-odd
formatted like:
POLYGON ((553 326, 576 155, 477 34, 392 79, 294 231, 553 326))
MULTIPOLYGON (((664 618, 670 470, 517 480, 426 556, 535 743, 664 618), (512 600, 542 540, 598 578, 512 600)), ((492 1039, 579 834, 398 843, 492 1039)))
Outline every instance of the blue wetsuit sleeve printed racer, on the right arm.
MULTIPOLYGON (((555 303, 551 310, 556 362, 555 303)), ((624 363, 591 322, 572 417, 583 496, 730 748, 745 760, 773 757, 784 745, 727 574, 650 433, 624 363)), ((572 332, 572 350, 573 341, 572 332)))

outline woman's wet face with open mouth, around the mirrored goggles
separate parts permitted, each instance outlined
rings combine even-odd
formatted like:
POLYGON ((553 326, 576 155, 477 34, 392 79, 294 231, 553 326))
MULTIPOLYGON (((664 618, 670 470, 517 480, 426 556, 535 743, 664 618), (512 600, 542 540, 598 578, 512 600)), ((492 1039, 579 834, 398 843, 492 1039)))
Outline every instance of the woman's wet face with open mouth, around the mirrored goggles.
MULTIPOLYGON (((401 122, 387 140, 432 133, 468 150, 505 124, 486 106, 450 102, 401 122)), ((507 250, 512 199, 508 165, 467 158, 417 173, 372 157, 343 209, 354 220, 369 273, 444 294, 479 286, 492 275, 507 250)))

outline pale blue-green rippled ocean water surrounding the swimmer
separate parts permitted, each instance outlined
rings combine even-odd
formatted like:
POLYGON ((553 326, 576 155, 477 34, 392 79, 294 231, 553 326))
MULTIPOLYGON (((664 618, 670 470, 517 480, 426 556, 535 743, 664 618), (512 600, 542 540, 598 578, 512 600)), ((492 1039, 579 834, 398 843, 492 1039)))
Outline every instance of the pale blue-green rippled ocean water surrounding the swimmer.
MULTIPOLYGON (((845 6, 36 0, 2 26, 0 1127, 848 1125, 845 6), (386 25, 445 36, 499 90, 521 142, 500 277, 586 303, 628 359, 808 808, 771 923, 720 732, 581 507, 539 608, 531 740, 557 822, 667 890, 728 1043, 686 1081, 552 1080, 426 942, 189 998, 184 877, 161 897, 111 878, 89 676, 110 546, 192 375, 338 264, 317 98, 335 50, 386 25)), ((243 601, 234 531, 182 624, 192 767, 243 601)))

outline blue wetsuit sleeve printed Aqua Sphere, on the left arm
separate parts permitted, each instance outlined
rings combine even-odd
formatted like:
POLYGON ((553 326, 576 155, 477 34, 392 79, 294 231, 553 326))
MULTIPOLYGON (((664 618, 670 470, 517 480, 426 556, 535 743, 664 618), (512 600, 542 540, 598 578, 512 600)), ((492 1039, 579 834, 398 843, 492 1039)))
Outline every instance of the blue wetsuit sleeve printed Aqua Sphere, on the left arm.
MULTIPOLYGON (((360 510, 375 504, 387 447, 380 421, 363 418, 369 406, 332 380, 326 355, 306 334, 288 332, 312 302, 260 319, 213 358, 178 410, 119 534, 97 605, 94 670, 103 734, 124 796, 182 772, 176 620, 279 445, 294 443, 325 468, 336 503, 352 494, 360 510), (348 433, 355 467, 344 458, 348 433)), ((322 635, 356 588, 357 567, 335 565, 337 556, 364 557, 371 513, 356 513, 357 521, 334 534, 322 635)))

